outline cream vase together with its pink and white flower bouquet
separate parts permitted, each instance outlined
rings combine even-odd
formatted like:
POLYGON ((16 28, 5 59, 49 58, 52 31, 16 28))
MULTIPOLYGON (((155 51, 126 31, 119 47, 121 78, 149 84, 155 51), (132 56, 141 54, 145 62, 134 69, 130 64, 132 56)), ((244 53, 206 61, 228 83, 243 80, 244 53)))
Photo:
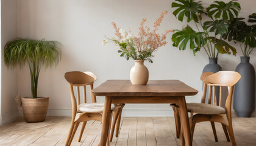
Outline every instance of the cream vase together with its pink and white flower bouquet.
POLYGON ((102 44, 113 42, 116 46, 119 47, 118 53, 120 57, 125 57, 127 60, 132 58, 135 60, 135 66, 130 70, 130 81, 133 85, 146 85, 148 83, 149 71, 144 66, 144 60, 148 60, 150 63, 154 55, 153 52, 161 46, 165 46, 166 35, 173 30, 166 30, 164 34, 157 33, 157 30, 160 27, 160 24, 163 21, 163 18, 167 14, 167 11, 164 11, 162 15, 155 21, 153 27, 150 29, 148 26, 145 26, 146 18, 143 18, 140 27, 138 27, 139 33, 138 36, 134 36, 130 29, 126 31, 116 26, 115 23, 112 23, 116 33, 117 38, 107 38, 104 37, 102 44))

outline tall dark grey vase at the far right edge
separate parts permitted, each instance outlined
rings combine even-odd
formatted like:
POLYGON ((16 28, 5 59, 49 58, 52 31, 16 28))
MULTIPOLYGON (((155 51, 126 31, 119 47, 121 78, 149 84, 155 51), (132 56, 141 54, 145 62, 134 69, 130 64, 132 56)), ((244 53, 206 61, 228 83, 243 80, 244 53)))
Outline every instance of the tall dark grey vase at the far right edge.
POLYGON ((250 57, 241 57, 235 71, 241 75, 235 85, 233 108, 239 117, 251 117, 255 109, 255 70, 250 57))

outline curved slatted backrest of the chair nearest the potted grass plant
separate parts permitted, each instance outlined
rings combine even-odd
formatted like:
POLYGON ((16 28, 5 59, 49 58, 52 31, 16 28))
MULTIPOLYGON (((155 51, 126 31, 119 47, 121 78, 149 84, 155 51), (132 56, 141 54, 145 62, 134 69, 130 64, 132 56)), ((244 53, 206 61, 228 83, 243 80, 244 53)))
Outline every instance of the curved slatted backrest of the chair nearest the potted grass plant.
MULTIPOLYGON (((93 90, 93 83, 97 77, 93 74, 93 72, 72 71, 66 72, 65 79, 70 85, 72 108, 76 109, 77 106, 80 105, 80 86, 84 87, 84 103, 86 103, 86 86, 90 85, 90 89, 93 90), (77 87, 77 102, 74 95, 73 86, 77 87)), ((91 102, 96 102, 96 97, 94 96, 93 92, 91 92, 91 102)))

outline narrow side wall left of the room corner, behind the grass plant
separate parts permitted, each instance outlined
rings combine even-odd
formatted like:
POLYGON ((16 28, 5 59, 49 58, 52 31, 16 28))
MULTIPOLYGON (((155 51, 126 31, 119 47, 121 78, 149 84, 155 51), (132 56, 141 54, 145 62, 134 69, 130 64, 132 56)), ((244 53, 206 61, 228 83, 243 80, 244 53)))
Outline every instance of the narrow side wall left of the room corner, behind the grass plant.
POLYGON ((17 69, 7 69, 4 64, 4 45, 16 38, 16 0, 1 1, 1 123, 18 116, 15 96, 18 92, 17 69))

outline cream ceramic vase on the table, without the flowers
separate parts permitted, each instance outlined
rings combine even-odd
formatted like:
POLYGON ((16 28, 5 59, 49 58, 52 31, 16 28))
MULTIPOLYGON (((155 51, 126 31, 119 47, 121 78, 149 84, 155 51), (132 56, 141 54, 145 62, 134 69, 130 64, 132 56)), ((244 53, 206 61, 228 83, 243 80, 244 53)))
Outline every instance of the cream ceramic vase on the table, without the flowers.
POLYGON ((135 60, 135 65, 130 69, 130 82, 133 85, 146 85, 149 80, 149 71, 144 66, 144 60, 135 60))

